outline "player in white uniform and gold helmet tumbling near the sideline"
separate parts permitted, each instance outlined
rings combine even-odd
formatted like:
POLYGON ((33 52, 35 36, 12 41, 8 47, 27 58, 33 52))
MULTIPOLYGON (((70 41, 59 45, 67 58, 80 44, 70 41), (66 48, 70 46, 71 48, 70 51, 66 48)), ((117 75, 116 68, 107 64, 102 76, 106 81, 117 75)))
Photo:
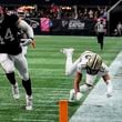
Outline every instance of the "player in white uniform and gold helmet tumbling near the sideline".
POLYGON ((62 49, 61 52, 65 54, 65 75, 71 75, 75 73, 74 77, 74 85, 70 91, 70 102, 79 101, 83 93, 91 90, 94 83, 94 79, 96 75, 102 77, 104 82, 106 83, 106 96, 112 95, 112 82, 109 74, 108 67, 103 63, 102 58, 92 52, 84 51, 79 59, 72 62, 72 54, 74 49, 62 49), (82 80, 82 75, 87 73, 85 83, 80 85, 80 81, 82 80))

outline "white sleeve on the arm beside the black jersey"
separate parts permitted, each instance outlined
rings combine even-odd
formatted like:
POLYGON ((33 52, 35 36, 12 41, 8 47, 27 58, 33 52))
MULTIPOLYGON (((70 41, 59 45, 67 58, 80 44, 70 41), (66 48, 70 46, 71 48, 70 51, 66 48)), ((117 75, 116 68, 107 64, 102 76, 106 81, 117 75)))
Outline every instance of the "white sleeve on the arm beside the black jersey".
POLYGON ((34 37, 33 29, 24 20, 19 20, 18 28, 26 31, 28 37, 33 39, 33 37, 34 37))

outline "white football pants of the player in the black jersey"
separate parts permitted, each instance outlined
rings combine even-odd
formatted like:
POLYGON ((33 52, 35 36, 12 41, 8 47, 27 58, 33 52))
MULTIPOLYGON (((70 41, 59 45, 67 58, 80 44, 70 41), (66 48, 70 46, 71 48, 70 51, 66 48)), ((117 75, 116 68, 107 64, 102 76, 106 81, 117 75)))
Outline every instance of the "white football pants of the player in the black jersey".
POLYGON ((0 53, 0 64, 6 73, 13 72, 16 68, 22 80, 29 80, 28 62, 23 53, 18 55, 0 53))

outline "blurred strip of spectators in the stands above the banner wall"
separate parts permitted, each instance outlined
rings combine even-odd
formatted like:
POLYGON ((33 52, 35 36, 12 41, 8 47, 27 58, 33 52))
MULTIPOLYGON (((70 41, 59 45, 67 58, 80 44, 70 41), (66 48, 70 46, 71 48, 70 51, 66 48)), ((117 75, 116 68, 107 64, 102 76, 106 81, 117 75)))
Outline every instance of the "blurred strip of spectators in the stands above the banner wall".
POLYGON ((94 19, 104 18, 106 19, 108 7, 82 7, 82 6, 72 6, 72 7, 62 7, 55 6, 23 6, 9 8, 6 10, 9 13, 20 12, 24 14, 26 18, 50 18, 50 19, 94 19))

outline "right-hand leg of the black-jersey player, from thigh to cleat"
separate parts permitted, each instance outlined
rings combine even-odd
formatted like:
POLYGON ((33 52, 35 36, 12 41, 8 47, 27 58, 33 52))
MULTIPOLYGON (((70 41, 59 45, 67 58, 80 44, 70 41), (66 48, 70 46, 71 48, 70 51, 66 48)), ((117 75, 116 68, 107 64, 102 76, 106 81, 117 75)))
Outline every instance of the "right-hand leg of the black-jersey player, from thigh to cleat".
POLYGON ((18 69, 20 75, 21 75, 22 85, 26 90, 26 102, 27 102, 26 109, 27 110, 32 110, 31 79, 29 77, 27 59, 22 53, 14 57, 14 65, 18 69))

